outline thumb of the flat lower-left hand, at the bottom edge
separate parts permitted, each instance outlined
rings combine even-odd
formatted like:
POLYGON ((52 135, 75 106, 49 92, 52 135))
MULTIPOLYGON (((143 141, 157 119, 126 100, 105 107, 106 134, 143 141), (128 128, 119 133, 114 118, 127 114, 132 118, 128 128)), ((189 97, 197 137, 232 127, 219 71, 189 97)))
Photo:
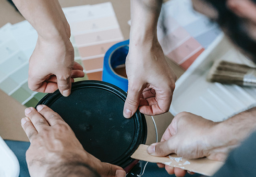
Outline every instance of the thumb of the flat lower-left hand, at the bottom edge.
POLYGON ((97 172, 101 177, 125 177, 126 175, 126 172, 120 166, 109 163, 102 163, 97 172))

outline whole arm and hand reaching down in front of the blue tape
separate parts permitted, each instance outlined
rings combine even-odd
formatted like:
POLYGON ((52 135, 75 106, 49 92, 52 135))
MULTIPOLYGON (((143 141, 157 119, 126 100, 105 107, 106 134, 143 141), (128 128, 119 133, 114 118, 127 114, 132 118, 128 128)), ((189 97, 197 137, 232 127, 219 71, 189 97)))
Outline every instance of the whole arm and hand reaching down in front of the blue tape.
POLYGON ((126 58, 128 95, 123 116, 139 108, 146 115, 169 110, 176 76, 166 61, 157 38, 162 0, 131 0, 131 31, 126 58))

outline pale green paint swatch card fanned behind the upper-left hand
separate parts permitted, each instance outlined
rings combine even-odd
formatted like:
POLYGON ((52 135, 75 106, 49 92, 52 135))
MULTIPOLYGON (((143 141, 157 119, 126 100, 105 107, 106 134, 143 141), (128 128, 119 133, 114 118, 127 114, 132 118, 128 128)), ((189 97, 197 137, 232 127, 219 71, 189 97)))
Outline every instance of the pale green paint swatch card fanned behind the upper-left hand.
POLYGON ((37 32, 27 21, 0 28, 0 89, 24 106, 36 106, 45 95, 31 91, 27 83, 28 60, 36 42, 37 32))

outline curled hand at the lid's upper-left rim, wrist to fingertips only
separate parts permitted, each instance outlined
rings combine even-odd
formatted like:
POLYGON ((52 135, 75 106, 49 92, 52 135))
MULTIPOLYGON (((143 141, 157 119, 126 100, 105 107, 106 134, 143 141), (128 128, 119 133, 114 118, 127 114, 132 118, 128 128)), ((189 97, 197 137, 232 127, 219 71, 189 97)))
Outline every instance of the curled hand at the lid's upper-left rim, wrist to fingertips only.
POLYGON ((63 96, 71 92, 73 78, 84 77, 83 67, 74 62, 74 49, 66 39, 44 39, 38 36, 29 59, 28 86, 31 90, 52 93, 59 88, 63 96))

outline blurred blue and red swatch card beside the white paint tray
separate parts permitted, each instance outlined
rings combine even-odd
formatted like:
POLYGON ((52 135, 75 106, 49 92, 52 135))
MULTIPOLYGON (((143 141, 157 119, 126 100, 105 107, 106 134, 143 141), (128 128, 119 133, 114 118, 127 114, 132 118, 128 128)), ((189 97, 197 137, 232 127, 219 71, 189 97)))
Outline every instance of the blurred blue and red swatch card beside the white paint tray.
POLYGON ((183 69, 188 69, 220 33, 216 23, 195 12, 191 0, 170 0, 163 4, 158 40, 165 55, 183 69))

